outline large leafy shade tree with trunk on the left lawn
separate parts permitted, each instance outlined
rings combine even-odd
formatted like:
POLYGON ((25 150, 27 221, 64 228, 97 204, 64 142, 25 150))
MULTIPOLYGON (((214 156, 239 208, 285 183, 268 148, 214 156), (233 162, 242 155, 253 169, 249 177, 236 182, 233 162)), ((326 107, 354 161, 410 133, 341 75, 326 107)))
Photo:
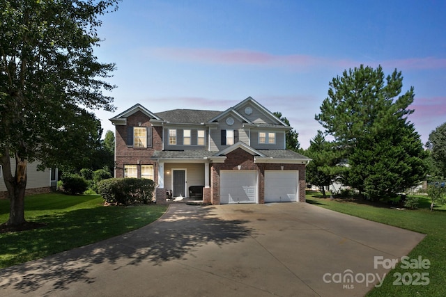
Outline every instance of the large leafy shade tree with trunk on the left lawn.
POLYGON ((82 160, 98 139, 92 110, 114 110, 103 91, 114 88, 104 79, 115 66, 98 61, 93 48, 100 15, 117 2, 0 0, 0 164, 8 225, 25 223, 26 164, 82 160))

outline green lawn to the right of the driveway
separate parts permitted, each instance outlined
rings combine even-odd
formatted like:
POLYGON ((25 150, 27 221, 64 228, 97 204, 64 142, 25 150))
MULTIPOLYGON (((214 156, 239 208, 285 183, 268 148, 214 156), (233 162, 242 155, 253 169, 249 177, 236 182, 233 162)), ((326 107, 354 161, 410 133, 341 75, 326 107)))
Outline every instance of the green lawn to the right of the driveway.
POLYGON ((399 263, 397 268, 387 274, 383 285, 372 289, 367 296, 446 296, 446 207, 435 207, 434 211, 429 211, 430 203, 425 196, 420 196, 420 209, 417 210, 398 210, 391 209, 387 204, 330 200, 321 197, 319 193, 308 194, 307 202, 344 214, 426 234, 423 241, 408 256, 410 259, 418 259, 419 256, 422 259, 429 259, 430 268, 403 269, 399 263), (406 284, 397 280, 397 275, 394 273, 406 275, 403 280, 406 284), (410 284, 410 280, 417 278, 417 273, 429 273, 429 284, 410 284), (399 285, 398 282, 402 284, 399 285))

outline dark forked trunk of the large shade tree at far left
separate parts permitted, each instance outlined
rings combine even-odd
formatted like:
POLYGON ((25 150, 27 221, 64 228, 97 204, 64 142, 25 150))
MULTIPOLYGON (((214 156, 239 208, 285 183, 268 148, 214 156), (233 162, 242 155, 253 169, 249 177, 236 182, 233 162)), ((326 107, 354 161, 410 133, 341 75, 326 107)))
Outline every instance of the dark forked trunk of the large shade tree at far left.
POLYGON ((15 176, 11 172, 9 153, 6 152, 0 160, 3 165, 3 180, 8 189, 10 202, 9 219, 6 225, 22 225, 25 220, 25 189, 26 189, 26 159, 15 155, 15 176))

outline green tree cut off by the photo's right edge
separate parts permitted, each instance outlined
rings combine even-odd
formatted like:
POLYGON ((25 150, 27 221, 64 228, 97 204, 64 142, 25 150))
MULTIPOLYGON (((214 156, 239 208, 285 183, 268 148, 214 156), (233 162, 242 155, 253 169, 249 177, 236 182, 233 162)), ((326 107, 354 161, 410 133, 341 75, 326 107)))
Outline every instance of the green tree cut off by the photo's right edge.
POLYGON ((446 122, 431 131, 426 147, 431 152, 433 165, 438 168, 438 173, 446 177, 446 122))

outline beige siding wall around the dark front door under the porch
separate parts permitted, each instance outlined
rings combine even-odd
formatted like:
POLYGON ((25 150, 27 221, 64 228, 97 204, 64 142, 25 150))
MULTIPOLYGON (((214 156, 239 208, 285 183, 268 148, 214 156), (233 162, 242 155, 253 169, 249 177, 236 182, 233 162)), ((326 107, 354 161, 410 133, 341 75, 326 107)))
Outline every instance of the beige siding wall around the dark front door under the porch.
MULTIPOLYGON (((204 186, 204 163, 164 163, 164 188, 172 188, 172 169, 185 169, 187 189, 190 186, 204 186), (169 174, 167 174, 169 171, 169 174)), ((188 196, 188 193, 187 193, 188 196)))

